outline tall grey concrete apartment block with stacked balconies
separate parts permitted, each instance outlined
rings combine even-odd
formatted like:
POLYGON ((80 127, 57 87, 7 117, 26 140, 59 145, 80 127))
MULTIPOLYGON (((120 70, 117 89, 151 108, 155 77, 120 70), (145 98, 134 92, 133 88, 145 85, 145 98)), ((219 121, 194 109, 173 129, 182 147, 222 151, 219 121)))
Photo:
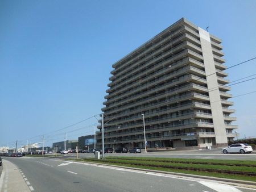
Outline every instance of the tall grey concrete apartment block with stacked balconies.
MULTIPOLYGON (((113 64, 106 90, 105 146, 201 148, 226 145, 237 126, 221 39, 187 19, 113 64)), ((97 145, 102 143, 101 126, 97 145)))

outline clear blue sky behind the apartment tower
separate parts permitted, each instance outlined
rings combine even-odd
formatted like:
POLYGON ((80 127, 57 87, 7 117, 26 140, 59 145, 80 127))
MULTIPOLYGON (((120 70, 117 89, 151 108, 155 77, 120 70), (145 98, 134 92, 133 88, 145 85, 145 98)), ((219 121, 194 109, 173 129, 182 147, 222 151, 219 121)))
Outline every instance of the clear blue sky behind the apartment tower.
MULTIPOLYGON (((223 40, 227 66, 256 57, 255 10, 256 1, 0 1, 0 146, 93 133, 95 118, 49 132, 100 114, 112 64, 182 17, 223 40)), ((229 80, 255 65, 227 70, 229 80)), ((240 137, 256 137, 256 93, 231 101, 240 137)))

